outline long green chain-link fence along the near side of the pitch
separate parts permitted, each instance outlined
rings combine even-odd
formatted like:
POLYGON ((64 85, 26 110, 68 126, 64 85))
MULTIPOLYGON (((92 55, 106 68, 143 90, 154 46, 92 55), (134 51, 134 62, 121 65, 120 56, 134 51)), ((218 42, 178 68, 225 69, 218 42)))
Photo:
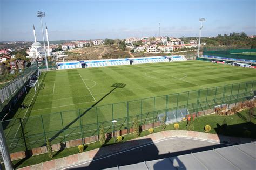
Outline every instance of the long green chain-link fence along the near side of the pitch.
MULTIPOLYGON (((189 85, 189 84, 188 84, 189 85)), ((230 84, 200 90, 186 91, 164 96, 144 98, 122 103, 102 105, 54 114, 25 117, 2 121, 10 152, 30 150, 52 144, 63 143, 105 132, 132 128, 137 115, 141 125, 156 123, 159 114, 166 114, 171 122, 183 119, 188 113, 196 115, 216 105, 231 104, 252 98, 256 81, 230 84)), ((201 114, 200 114, 201 115, 201 114)))

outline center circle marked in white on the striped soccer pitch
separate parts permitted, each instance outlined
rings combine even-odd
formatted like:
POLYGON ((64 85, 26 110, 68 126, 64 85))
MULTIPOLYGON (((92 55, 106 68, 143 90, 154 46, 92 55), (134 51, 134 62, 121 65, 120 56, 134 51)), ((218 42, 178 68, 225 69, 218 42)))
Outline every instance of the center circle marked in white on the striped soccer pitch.
POLYGON ((151 71, 144 74, 146 77, 150 77, 151 79, 159 79, 159 80, 171 80, 171 79, 184 79, 187 77, 185 73, 176 72, 172 70, 157 70, 151 71))

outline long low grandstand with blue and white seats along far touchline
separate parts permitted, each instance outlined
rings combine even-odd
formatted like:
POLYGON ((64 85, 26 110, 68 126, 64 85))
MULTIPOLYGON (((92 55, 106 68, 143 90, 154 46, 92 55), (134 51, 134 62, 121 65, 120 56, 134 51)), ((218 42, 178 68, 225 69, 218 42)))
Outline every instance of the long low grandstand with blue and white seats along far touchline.
POLYGON ((140 58, 125 58, 125 59, 106 59, 106 60, 85 60, 85 61, 69 61, 58 62, 57 69, 75 69, 87 67, 106 67, 106 66, 122 66, 122 65, 136 65, 144 63, 158 63, 158 62, 174 62, 186 61, 185 56, 151 56, 140 58))

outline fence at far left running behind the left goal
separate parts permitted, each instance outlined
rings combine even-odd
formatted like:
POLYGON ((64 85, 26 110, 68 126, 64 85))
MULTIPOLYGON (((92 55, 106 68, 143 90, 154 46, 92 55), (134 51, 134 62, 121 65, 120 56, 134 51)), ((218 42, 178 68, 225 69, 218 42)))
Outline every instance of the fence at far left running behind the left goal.
POLYGON ((24 84, 30 79, 38 70, 37 65, 32 65, 25 68, 24 71, 18 75, 15 79, 6 83, 5 86, 0 89, 0 109, 2 111, 3 107, 10 102, 12 97, 24 86, 24 84))

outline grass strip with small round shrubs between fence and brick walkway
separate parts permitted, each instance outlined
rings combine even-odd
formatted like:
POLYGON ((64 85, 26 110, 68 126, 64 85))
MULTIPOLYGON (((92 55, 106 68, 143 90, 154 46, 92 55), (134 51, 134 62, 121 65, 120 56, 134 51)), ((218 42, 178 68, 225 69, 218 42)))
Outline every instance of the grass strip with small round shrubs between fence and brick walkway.
MULTIPOLYGON (((254 108, 254 111, 256 108, 254 108)), ((245 130, 250 130, 251 131, 251 138, 256 138, 256 115, 254 115, 251 118, 251 122, 248 122, 248 110, 244 110, 241 112, 238 112, 237 114, 233 114, 230 116, 220 116, 217 114, 212 114, 212 115, 207 115, 207 116, 202 116, 202 117, 197 117, 194 119, 194 131, 198 132, 205 132, 204 131, 204 126, 205 125, 210 125, 211 126, 211 131, 209 133, 213 134, 218 134, 218 125, 221 126, 223 123, 224 119, 226 119, 227 123, 227 128, 225 131, 223 131, 221 134, 225 134, 226 136, 233 136, 233 137, 245 137, 244 136, 244 131, 245 130)), ((186 128, 186 121, 179 122, 179 129, 181 130, 187 130, 186 128)), ((174 130, 173 124, 169 124, 166 126, 165 130, 174 130)), ((154 128, 154 133, 162 131, 160 128, 154 128)), ((147 130, 143 131, 139 137, 146 136, 148 135, 149 132, 147 130)), ((131 139, 134 139, 133 134, 127 134, 124 136, 122 142, 129 141, 131 139)), ((104 146, 108 145, 113 145, 114 144, 114 139, 110 139, 104 146)), ((104 147, 103 146, 103 147, 104 147)), ((84 148, 84 152, 93 150, 95 148, 101 147, 99 142, 96 143, 91 143, 91 144, 86 144, 84 148)), ((62 151, 56 151, 54 152, 54 156, 52 159, 58 159, 62 157, 66 157, 68 155, 72 154, 77 154, 79 153, 77 147, 71 147, 71 148, 66 148, 62 151)), ((28 159, 21 159, 21 160, 15 160, 12 161, 15 165, 16 168, 21 168, 33 164, 39 164, 44 161, 49 161, 52 160, 51 158, 48 157, 48 154, 41 154, 41 155, 36 155, 33 157, 30 157, 28 159)))

